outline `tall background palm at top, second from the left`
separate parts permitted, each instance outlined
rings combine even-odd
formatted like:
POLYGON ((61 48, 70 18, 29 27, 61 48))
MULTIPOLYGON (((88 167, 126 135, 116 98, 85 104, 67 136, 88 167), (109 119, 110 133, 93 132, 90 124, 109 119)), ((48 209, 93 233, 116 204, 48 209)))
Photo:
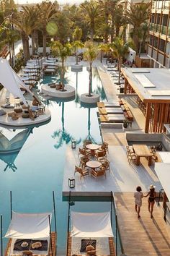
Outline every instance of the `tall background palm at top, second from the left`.
POLYGON ((58 12, 58 4, 52 4, 50 1, 42 1, 41 4, 37 4, 37 8, 40 9, 41 12, 40 25, 43 35, 43 56, 46 56, 47 25, 53 16, 58 12))

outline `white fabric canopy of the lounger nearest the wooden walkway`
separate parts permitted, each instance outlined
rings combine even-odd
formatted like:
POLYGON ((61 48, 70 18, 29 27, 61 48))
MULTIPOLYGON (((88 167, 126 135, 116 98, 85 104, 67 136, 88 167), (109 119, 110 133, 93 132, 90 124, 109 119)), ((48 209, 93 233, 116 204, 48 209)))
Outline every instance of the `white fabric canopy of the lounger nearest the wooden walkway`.
POLYGON ((71 236, 113 237, 110 213, 71 212, 71 236))

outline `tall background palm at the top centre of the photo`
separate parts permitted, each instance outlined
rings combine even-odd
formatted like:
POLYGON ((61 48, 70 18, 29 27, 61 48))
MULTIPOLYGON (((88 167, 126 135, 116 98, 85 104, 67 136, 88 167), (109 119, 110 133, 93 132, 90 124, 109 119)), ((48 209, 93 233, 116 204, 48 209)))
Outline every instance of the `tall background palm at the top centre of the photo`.
POLYGON ((86 19, 89 22, 90 38, 91 41, 93 41, 95 22, 99 16, 99 4, 97 4, 97 2, 94 0, 84 1, 84 3, 80 5, 80 8, 83 10, 84 14, 86 15, 86 19))

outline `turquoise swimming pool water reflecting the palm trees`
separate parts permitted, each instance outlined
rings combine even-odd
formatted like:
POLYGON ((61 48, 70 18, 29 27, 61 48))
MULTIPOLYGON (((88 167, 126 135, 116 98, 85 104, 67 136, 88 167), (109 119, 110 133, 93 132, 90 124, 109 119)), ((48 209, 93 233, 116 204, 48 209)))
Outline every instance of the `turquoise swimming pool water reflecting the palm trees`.
MULTIPOLYGON (((56 80, 58 75, 44 77, 41 84, 56 80)), ((81 145, 87 137, 97 143, 102 141, 97 108, 84 108, 79 103, 79 95, 88 92, 88 70, 84 67, 83 72, 76 74, 68 67, 66 81, 76 88, 76 99, 65 103, 45 101, 51 111, 48 124, 17 130, 0 127, 1 135, 4 135, 3 140, 0 140, 0 214, 3 216, 3 235, 10 222, 10 190, 12 209, 23 213, 52 211, 54 191, 58 255, 66 255, 68 202, 62 198, 66 145, 72 139, 81 145), (17 150, 3 154, 2 150, 8 147, 17 150)), ((100 93, 103 100, 106 99, 97 69, 93 72, 92 90, 100 93)), ((109 210, 109 205, 109 202, 77 202, 75 208, 80 211, 105 211, 109 210)))

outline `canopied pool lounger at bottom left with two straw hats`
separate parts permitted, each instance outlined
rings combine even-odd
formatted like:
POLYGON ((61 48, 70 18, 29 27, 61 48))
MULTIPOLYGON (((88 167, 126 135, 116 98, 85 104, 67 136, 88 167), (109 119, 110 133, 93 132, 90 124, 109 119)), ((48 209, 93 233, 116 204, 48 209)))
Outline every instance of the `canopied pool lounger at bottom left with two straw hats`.
POLYGON ((4 256, 22 255, 30 250, 33 255, 55 256, 55 232, 50 232, 52 213, 14 213, 5 237, 9 238, 4 256), (27 248, 22 243, 27 242, 27 248), (39 248, 33 244, 39 242, 39 248))

